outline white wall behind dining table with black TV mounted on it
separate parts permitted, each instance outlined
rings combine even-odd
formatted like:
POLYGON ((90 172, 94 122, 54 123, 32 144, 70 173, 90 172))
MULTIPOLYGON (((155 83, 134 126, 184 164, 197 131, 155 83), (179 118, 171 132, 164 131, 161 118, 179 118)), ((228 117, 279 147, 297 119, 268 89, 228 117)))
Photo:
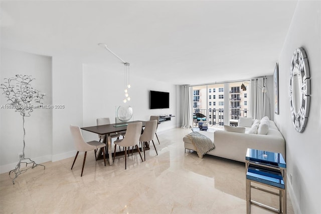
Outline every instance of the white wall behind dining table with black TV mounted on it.
MULTIPOLYGON (((119 63, 117 67, 83 65, 83 125, 95 126, 96 119, 109 117, 115 123, 115 108, 130 105, 133 108, 133 120, 149 120, 151 115, 176 115, 176 86, 155 80, 147 80, 130 74, 131 100, 123 103, 124 74, 119 63), (149 90, 170 92, 169 109, 149 109, 149 90)), ((159 124, 157 132, 175 128, 177 118, 159 124)), ((84 138, 97 138, 94 134, 84 132, 84 138)))

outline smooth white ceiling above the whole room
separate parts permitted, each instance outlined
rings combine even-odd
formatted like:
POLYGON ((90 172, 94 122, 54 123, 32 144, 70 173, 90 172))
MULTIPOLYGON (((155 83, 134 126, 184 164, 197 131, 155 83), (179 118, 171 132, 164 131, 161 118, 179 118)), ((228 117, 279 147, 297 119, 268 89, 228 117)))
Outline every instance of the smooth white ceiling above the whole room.
POLYGON ((296 3, 1 1, 1 46, 123 72, 97 45, 105 43, 131 75, 173 84, 246 79, 272 75, 296 3))

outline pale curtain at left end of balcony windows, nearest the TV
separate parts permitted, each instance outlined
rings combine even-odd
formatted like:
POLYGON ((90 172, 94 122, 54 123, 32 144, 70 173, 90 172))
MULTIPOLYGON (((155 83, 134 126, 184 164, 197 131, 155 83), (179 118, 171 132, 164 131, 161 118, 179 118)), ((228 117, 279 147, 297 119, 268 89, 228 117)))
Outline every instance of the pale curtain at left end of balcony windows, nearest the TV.
POLYGON ((192 112, 192 88, 189 85, 182 85, 182 108, 183 108, 183 124, 181 128, 192 128, 193 112, 192 112))

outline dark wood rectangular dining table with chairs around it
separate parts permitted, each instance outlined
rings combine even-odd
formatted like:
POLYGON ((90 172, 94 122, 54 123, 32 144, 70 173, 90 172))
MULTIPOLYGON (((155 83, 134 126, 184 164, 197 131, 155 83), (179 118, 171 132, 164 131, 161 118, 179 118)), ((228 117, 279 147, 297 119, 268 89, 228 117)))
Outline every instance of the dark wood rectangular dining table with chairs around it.
POLYGON ((110 134, 117 133, 121 131, 127 130, 127 125, 130 123, 142 123, 142 127, 145 127, 146 122, 145 121, 130 121, 130 122, 124 122, 124 123, 116 123, 116 124, 108 124, 108 125, 100 125, 100 126, 90 126, 90 127, 83 127, 82 130, 92 132, 98 135, 104 135, 103 143, 106 144, 106 152, 105 154, 108 154, 108 162, 109 165, 112 165, 112 152, 111 152, 111 138, 110 134))

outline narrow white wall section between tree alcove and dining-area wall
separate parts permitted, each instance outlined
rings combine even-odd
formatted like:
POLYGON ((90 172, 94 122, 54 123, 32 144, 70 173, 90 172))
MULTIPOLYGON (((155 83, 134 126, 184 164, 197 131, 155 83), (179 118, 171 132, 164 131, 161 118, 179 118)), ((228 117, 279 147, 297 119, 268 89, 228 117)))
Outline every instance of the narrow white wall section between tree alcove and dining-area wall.
POLYGON ((72 56, 53 57, 53 104, 64 109, 53 109, 52 160, 76 154, 69 125, 83 125, 82 63, 72 56))

